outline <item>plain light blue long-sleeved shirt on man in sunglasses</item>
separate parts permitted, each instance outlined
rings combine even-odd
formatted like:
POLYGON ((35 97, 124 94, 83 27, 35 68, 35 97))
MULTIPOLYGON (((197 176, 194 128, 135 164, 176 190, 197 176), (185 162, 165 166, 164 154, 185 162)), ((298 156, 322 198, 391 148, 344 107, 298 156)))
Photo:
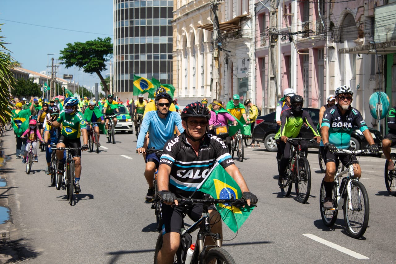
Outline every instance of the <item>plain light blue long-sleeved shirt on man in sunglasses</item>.
POLYGON ((150 134, 148 148, 164 149, 165 143, 175 134, 175 126, 180 133, 184 132, 178 113, 169 111, 166 117, 162 119, 158 116, 157 110, 147 112, 140 127, 136 148, 143 147, 145 135, 148 132, 150 134))

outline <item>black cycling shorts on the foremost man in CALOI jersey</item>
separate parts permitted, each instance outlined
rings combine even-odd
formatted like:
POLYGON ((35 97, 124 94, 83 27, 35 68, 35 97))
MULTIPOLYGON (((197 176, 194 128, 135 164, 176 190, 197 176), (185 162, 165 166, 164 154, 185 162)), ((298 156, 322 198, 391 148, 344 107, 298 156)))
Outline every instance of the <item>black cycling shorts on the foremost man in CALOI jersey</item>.
MULTIPOLYGON (((209 210, 216 210, 214 205, 209 206, 209 210)), ((193 207, 185 208, 178 206, 171 206, 162 204, 162 220, 164 225, 162 226, 163 233, 177 232, 180 233, 183 227, 183 218, 187 214, 188 217, 194 222, 198 221, 202 212, 204 212, 202 204, 196 204, 193 207), (165 232, 164 232, 165 229, 165 232)))

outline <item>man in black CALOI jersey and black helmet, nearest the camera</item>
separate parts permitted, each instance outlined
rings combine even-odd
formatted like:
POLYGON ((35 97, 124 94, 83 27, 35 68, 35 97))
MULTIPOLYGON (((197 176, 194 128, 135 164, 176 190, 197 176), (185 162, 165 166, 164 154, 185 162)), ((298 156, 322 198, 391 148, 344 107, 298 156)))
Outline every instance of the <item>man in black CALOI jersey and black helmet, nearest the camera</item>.
MULTIPOLYGON (((168 140, 164 147, 158 169, 158 195, 161 197, 162 220, 164 221, 164 242, 158 253, 158 263, 172 263, 179 248, 180 230, 185 214, 196 221, 202 215, 202 206, 192 209, 173 206, 177 198, 190 197, 196 187, 208 175, 211 168, 219 163, 234 178, 247 203, 257 203, 257 197, 249 192, 246 182, 228 153, 227 146, 218 138, 206 133, 210 113, 200 102, 190 103, 182 113, 185 128, 180 136, 168 140)), ((203 193, 196 191, 192 198, 200 198, 203 193)), ((211 207, 212 208, 212 207, 211 207)), ((214 207, 210 212, 213 233, 221 232, 221 219, 214 207)), ((206 239, 210 241, 210 239, 206 239)), ((210 242, 209 242, 210 243, 210 242)), ((212 242, 213 243, 213 242, 212 242)))

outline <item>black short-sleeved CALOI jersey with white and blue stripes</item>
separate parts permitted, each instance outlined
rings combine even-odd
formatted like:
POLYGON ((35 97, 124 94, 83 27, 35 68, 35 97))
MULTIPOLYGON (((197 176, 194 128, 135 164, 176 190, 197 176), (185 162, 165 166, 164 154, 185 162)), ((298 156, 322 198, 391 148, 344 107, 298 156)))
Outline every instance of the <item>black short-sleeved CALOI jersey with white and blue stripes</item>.
MULTIPOLYGON (((220 163, 223 168, 234 164, 221 138, 206 134, 200 143, 197 156, 187 142, 185 132, 165 143, 164 154, 160 159, 160 165, 166 164, 171 167, 169 191, 181 198, 190 197, 216 163, 220 163)), ((202 195, 202 192, 197 191, 194 198, 200 198, 202 195)))

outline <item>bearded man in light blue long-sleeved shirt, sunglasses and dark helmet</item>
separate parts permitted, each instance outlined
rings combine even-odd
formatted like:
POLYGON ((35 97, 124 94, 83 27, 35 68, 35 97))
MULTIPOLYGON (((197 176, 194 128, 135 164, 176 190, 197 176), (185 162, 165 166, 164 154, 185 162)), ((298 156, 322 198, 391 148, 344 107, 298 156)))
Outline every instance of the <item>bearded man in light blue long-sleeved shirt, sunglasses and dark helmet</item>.
MULTIPOLYGON (((183 126, 181 125, 180 115, 176 112, 169 111, 169 106, 172 103, 172 98, 169 94, 157 94, 154 102, 157 110, 150 111, 146 114, 141 124, 139 136, 137 137, 136 151, 139 155, 146 151, 143 144, 145 142, 147 132, 150 134, 148 148, 154 147, 154 149, 163 149, 165 142, 173 137, 175 126, 177 126, 179 131, 184 131, 183 126)), ((145 160, 145 177, 148 184, 146 200, 151 201, 155 193, 153 184, 154 172, 155 169, 158 168, 160 159, 157 157, 156 153, 151 153, 146 155, 145 160)))

